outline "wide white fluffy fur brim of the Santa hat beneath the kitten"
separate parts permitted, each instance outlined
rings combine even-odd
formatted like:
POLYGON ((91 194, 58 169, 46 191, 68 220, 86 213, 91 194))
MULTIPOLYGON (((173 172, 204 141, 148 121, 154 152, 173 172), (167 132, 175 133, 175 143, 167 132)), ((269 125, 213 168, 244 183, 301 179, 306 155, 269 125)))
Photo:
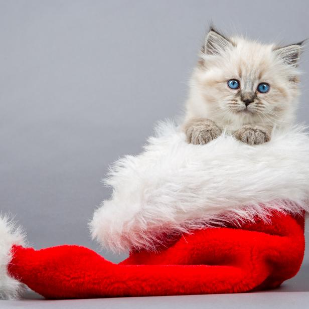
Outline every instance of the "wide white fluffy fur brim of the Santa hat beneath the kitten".
POLYGON ((162 232, 309 209, 309 138, 301 127, 273 132, 261 145, 228 134, 193 145, 167 122, 144 149, 114 163, 105 181, 112 198, 90 222, 92 237, 114 251, 155 249, 162 232))

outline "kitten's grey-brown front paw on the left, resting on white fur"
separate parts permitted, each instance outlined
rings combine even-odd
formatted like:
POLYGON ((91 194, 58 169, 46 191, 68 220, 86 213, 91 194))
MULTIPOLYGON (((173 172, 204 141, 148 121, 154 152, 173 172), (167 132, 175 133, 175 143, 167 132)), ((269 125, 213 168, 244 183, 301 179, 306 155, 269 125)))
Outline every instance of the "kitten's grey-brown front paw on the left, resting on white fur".
POLYGON ((188 143, 192 144, 206 144, 222 133, 214 121, 205 118, 190 119, 185 123, 184 131, 188 143))

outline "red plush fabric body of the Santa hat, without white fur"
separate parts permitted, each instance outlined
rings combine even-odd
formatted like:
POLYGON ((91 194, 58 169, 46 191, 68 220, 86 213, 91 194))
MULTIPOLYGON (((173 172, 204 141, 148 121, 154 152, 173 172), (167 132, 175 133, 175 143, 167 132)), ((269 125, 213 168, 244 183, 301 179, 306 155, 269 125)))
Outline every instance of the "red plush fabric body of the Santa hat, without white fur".
POLYGON ((80 246, 13 247, 9 273, 47 298, 234 293, 273 288, 294 276, 304 253, 304 219, 208 228, 134 252, 114 264, 80 246))

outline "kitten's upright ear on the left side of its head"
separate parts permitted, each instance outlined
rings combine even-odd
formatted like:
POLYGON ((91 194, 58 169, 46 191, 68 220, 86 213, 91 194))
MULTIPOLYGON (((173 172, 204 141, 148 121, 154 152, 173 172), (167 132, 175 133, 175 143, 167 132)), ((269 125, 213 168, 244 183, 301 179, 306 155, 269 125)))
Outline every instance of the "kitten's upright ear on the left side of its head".
POLYGON ((213 27, 210 28, 205 44, 202 48, 202 53, 205 55, 222 55, 226 50, 233 48, 233 43, 225 36, 220 34, 213 27))

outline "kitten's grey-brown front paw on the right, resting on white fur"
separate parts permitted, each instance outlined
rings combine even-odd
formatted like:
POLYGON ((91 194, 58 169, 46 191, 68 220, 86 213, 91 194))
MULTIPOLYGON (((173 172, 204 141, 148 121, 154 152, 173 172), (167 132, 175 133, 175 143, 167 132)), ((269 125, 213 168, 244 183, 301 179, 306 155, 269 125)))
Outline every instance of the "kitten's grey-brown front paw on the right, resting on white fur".
POLYGON ((235 137, 249 145, 263 144, 270 140, 270 134, 263 127, 244 125, 235 132, 235 137))

